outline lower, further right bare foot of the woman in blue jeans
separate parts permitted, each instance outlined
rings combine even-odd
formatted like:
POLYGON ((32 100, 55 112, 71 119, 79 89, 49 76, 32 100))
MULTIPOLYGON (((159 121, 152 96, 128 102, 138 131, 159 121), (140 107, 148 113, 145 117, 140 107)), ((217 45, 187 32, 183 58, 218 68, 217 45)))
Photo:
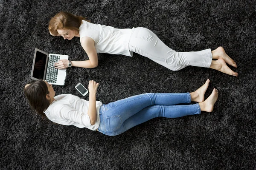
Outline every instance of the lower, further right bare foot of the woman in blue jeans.
POLYGON ((213 89, 212 94, 204 101, 199 103, 201 111, 212 112, 213 106, 218 99, 218 90, 216 88, 213 89))

